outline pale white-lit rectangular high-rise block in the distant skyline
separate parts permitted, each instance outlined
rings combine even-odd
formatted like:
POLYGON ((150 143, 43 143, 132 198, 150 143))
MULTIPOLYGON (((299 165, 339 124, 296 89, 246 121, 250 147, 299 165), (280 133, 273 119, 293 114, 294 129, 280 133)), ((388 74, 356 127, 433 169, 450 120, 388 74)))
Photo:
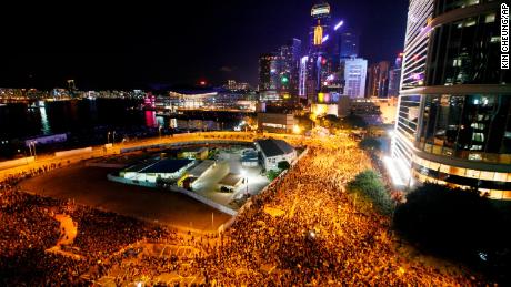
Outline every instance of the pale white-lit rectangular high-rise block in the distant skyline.
POLYGON ((365 75, 368 73, 368 60, 351 58, 341 60, 344 68, 344 93, 350 99, 364 98, 365 75))

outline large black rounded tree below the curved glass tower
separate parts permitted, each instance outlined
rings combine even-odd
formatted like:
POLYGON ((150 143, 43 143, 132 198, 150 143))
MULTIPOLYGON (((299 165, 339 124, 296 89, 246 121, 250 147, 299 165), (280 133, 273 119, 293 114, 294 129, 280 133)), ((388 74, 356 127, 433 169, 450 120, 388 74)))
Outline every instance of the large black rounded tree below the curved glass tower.
POLYGON ((480 252, 509 248, 501 218, 478 191, 427 183, 407 195, 407 202, 395 209, 393 224, 409 240, 429 250, 480 260, 480 252))

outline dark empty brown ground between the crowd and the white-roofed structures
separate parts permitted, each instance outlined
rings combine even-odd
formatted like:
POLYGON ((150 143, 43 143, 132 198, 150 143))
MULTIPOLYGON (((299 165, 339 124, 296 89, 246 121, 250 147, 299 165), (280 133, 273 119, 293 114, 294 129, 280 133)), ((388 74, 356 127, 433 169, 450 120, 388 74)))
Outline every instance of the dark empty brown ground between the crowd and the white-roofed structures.
POLYGON ((230 216, 186 195, 110 182, 112 168, 77 164, 24 181, 22 189, 56 198, 72 198, 122 215, 176 228, 217 230, 230 216))

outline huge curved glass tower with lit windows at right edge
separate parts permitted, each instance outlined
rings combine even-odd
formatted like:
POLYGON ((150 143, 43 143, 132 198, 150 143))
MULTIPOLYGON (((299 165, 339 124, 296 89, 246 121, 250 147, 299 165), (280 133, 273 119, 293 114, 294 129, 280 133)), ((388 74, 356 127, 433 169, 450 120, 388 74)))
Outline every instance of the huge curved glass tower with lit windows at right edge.
POLYGON ((392 141, 399 185, 435 182, 511 199, 511 76, 500 3, 411 0, 392 141))

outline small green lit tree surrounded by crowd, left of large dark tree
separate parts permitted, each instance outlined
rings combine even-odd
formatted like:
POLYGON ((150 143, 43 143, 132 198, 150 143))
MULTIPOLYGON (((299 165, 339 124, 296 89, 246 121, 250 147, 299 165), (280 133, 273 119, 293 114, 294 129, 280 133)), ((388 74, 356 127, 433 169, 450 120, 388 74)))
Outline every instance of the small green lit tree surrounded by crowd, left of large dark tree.
POLYGON ((393 211, 394 203, 381 175, 373 170, 359 173, 353 181, 348 183, 348 192, 358 194, 363 203, 372 205, 382 214, 390 215, 393 211))

